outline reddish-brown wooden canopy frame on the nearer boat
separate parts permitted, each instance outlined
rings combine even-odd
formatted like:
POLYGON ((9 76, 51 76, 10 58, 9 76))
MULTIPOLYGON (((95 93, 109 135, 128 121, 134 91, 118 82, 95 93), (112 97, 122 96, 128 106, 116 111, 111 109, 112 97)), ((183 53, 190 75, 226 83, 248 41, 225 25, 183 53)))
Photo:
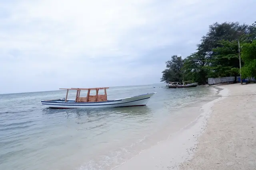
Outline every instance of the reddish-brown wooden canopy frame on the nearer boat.
POLYGON ((68 98, 68 91, 69 90, 76 90, 76 99, 75 102, 104 102, 107 101, 107 90, 108 87, 101 87, 101 88, 60 88, 60 90, 67 90, 65 102, 67 102, 68 98), (86 97, 80 97, 81 90, 88 90, 86 97), (96 90, 96 95, 90 96, 90 91, 96 90), (104 90, 104 94, 99 95, 99 90, 104 90))

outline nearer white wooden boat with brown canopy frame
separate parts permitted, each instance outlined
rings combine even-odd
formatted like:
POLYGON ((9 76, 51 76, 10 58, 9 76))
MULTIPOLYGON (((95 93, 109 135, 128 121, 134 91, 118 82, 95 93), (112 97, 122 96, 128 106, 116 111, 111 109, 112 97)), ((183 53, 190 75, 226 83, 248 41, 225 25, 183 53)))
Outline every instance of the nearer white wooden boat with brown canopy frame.
POLYGON ((66 98, 44 100, 41 101, 43 105, 54 108, 98 108, 98 107, 128 107, 128 106, 145 106, 148 100, 155 93, 143 94, 129 98, 108 100, 106 89, 103 88, 60 88, 60 90, 67 90, 66 98), (75 100, 67 100, 69 90, 76 90, 75 100), (80 97, 81 90, 87 90, 86 97, 80 97), (90 95, 91 90, 96 90, 96 95, 90 95), (104 90, 104 94, 100 95, 99 90, 104 90))

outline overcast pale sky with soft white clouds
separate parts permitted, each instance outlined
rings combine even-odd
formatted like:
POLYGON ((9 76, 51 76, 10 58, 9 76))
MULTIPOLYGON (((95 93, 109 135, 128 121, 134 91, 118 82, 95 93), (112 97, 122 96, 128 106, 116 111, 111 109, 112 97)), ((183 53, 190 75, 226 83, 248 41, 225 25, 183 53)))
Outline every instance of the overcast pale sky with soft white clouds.
POLYGON ((0 94, 159 83, 218 21, 256 0, 0 0, 0 94))

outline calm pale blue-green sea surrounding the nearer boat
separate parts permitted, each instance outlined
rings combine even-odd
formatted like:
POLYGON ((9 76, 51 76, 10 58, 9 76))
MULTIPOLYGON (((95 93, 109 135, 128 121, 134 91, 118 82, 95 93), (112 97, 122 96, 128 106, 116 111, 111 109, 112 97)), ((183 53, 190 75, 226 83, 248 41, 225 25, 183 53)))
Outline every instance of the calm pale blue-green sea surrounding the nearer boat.
POLYGON ((41 104, 65 97, 61 90, 1 94, 0 170, 114 168, 194 121, 200 106, 218 97, 212 87, 168 89, 165 84, 107 92, 108 99, 157 93, 147 106, 112 109, 49 109, 41 104))

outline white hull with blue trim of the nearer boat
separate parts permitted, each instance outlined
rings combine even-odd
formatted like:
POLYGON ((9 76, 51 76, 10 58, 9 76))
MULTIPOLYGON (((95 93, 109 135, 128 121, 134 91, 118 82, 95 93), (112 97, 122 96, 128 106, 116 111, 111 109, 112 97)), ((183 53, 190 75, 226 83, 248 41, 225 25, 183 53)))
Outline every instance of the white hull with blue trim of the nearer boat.
POLYGON ((106 107, 129 107, 129 106, 145 106, 148 100, 155 93, 123 98, 117 100, 108 100, 104 102, 74 102, 64 100, 41 101, 43 105, 53 108, 106 108, 106 107))

